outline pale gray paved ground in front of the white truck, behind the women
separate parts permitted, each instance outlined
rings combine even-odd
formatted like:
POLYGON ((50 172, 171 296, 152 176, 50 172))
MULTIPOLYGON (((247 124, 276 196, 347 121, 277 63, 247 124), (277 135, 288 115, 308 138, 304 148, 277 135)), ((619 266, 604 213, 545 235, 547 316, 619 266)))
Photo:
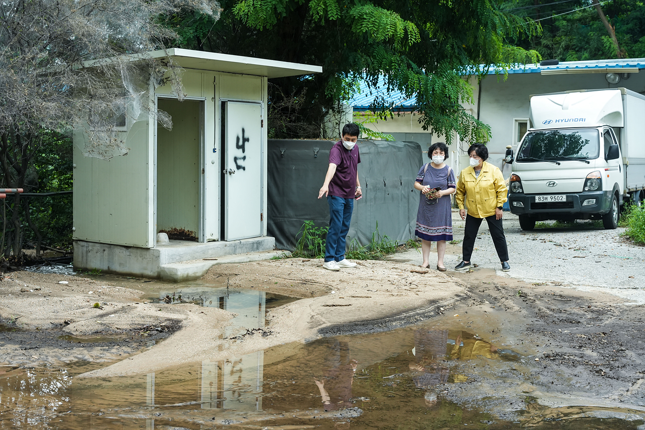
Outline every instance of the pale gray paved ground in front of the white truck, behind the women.
MULTIPOLYGON (((546 221, 551 223, 552 221, 546 221)), ((504 212, 504 232, 508 241, 510 272, 502 272, 486 223, 482 223, 475 241, 472 261, 486 269, 496 269, 499 276, 527 282, 550 282, 575 286, 582 291, 610 289, 612 294, 645 303, 645 247, 635 245, 621 235, 624 229, 604 230, 590 222, 566 228, 536 228, 524 231, 517 216, 504 212)), ((464 221, 453 212, 453 236, 464 237, 464 221)), ((433 247, 432 252, 435 252, 433 247)), ((409 250, 396 254, 395 261, 421 264, 421 254, 409 250)), ((431 256, 436 261, 435 256, 431 256)), ((448 245, 446 267, 461 261, 461 242, 448 245)))

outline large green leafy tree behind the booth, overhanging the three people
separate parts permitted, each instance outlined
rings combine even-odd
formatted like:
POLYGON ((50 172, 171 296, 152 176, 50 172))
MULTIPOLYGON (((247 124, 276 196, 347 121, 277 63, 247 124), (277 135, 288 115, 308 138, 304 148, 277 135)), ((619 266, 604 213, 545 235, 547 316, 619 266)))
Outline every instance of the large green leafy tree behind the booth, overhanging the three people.
MULTIPOLYGON (((223 0, 221 6, 217 22, 186 12, 166 25, 187 48, 322 66, 319 75, 275 80, 281 91, 270 94, 273 103, 304 97, 301 121, 316 125, 353 96, 359 79, 376 85, 384 74, 388 87, 417 98, 424 129, 448 143, 455 134, 486 141, 489 128, 462 108, 473 96, 464 76, 538 59, 506 40, 535 36, 539 26, 493 0, 223 0)), ((382 99, 372 108, 382 118, 392 114, 382 99)), ((313 134, 278 133, 319 137, 313 134)))

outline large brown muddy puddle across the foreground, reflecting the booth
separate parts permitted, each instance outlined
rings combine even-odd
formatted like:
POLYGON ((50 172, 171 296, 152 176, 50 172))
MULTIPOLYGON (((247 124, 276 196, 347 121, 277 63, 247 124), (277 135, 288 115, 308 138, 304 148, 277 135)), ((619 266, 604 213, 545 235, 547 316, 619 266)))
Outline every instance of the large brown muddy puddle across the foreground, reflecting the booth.
POLYGON ((542 405, 530 389, 494 400, 493 384, 482 395, 482 375, 513 385, 535 360, 487 338, 425 322, 123 378, 0 367, 0 429, 645 428, 630 409, 542 405), (451 396, 471 382, 470 397, 451 396))

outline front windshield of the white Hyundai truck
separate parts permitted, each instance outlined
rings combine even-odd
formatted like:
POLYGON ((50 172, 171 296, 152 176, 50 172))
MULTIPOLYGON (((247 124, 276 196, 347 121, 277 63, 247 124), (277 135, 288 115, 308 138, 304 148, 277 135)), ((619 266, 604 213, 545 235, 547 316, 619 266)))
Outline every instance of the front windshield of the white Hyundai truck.
POLYGON ((517 161, 598 158, 600 142, 594 128, 533 131, 517 151, 517 161))

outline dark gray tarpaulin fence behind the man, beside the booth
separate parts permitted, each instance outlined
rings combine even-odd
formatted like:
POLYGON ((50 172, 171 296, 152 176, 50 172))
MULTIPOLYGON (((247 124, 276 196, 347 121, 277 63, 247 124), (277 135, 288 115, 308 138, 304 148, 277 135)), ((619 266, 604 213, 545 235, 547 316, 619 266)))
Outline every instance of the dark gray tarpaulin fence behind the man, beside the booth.
MULTIPOLYGON (((268 234, 279 249, 293 250, 304 221, 317 227, 329 223, 326 198, 318 197, 335 141, 268 141, 268 234)), ((359 179, 363 198, 354 201, 348 246, 366 245, 379 234, 405 243, 414 237, 419 191, 414 189, 424 160, 419 143, 359 140, 359 179)))

